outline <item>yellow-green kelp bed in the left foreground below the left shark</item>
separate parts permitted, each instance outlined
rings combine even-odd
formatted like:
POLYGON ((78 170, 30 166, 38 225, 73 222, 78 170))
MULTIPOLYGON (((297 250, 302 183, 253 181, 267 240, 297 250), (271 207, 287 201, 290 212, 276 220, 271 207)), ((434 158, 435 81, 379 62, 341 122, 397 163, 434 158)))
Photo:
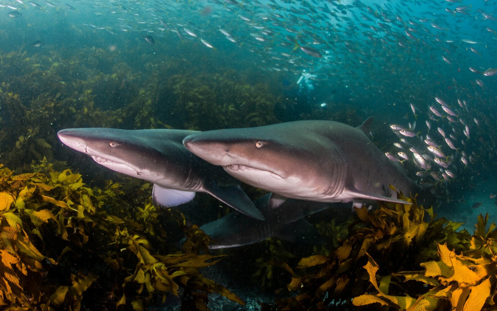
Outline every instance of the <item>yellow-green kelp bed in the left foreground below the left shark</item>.
POLYGON ((46 159, 32 170, 16 175, 0 166, 0 306, 77 311, 94 287, 110 293, 114 308, 145 310, 168 295, 190 295, 185 304, 208 310, 214 292, 244 304, 202 276, 200 268, 223 256, 207 252, 208 236, 186 228, 181 213, 164 211, 187 235, 183 251, 165 252, 155 245, 167 235, 157 221, 162 212, 148 195, 134 207, 117 183, 89 188, 80 174, 56 171, 46 159), (115 278, 99 278, 103 271, 115 278))

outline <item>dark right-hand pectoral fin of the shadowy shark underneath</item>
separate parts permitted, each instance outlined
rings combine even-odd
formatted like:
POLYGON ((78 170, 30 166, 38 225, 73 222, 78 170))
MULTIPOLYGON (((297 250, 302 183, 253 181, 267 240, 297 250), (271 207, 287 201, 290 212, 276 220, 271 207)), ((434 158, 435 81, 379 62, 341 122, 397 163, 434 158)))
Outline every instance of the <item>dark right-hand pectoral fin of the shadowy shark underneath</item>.
POLYGON ((275 228, 274 235, 290 242, 309 244, 322 244, 324 242, 321 234, 305 219, 299 219, 278 229, 275 228))

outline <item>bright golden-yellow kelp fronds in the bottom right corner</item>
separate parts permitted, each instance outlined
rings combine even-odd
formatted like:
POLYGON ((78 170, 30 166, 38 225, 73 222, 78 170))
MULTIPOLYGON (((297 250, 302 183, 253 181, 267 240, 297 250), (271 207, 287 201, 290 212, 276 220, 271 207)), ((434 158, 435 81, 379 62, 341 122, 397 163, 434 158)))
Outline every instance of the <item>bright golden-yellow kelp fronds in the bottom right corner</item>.
MULTIPOLYGON (((431 260, 420 264, 424 271, 406 271, 393 273, 392 276, 414 280, 424 284, 425 293, 411 296, 392 297, 385 295, 376 284, 378 265, 368 255, 368 264, 364 266, 369 274, 376 295, 366 294, 353 299, 355 306, 374 303, 388 305, 402 310, 495 310, 497 304, 497 226, 488 224, 487 214, 480 214, 475 234, 466 256, 449 250, 447 243, 437 244, 439 260, 431 260)), ((388 290, 388 288, 386 288, 388 290)))

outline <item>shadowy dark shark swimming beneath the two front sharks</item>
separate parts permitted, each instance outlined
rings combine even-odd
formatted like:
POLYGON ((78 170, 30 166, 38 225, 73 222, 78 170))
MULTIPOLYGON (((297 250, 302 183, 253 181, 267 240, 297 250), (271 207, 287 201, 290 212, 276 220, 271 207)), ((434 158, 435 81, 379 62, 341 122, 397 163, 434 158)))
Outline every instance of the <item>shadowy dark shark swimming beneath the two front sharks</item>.
POLYGON ((200 227, 210 235, 210 249, 257 243, 271 236, 291 242, 321 244, 321 235, 304 217, 328 209, 331 204, 280 198, 272 193, 255 200, 265 221, 241 213, 229 215, 200 227))

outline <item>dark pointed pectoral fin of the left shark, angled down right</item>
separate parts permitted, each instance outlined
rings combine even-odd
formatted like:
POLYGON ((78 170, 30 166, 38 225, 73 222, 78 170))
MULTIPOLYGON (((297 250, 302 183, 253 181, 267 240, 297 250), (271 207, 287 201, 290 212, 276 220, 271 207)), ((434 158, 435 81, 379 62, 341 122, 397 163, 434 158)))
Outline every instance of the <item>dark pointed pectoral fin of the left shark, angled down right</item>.
POLYGON ((264 220, 262 213, 255 207, 247 194, 236 186, 218 186, 212 184, 207 192, 219 201, 228 204, 242 214, 258 220, 264 220))

